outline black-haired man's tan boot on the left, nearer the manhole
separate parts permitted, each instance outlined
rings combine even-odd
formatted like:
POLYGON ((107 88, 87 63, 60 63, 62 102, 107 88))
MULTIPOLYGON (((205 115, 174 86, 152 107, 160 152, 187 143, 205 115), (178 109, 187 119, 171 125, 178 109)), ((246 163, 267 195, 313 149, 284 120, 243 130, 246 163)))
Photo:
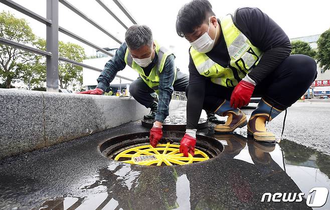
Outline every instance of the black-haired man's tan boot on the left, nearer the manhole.
POLYGON ((247 124, 246 115, 240 109, 224 112, 228 116, 225 124, 217 124, 214 131, 217 133, 233 132, 237 127, 244 127, 247 124))

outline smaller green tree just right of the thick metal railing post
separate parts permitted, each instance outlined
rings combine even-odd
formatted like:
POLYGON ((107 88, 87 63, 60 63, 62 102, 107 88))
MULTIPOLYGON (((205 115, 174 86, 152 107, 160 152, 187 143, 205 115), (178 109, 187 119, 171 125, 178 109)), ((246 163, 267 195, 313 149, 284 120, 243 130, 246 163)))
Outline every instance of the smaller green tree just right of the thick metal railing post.
MULTIPOLYGON (((46 40, 39 39, 37 41, 38 48, 46 49, 46 40)), ((82 46, 71 43, 59 41, 59 56, 82 62, 85 59, 85 50, 82 46)), ((46 65, 45 59, 43 59, 44 65, 46 65)), ((61 88, 66 89, 69 85, 79 86, 82 84, 82 67, 72 65, 66 62, 59 62, 59 85, 61 88)))

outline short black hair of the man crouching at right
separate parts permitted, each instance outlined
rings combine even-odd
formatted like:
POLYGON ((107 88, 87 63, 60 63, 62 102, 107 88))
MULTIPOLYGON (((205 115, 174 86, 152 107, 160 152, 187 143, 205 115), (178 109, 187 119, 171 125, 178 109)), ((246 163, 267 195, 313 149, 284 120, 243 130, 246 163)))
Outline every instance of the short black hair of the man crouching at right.
POLYGON ((192 0, 183 5, 178 12, 176 29, 179 36, 194 32, 195 28, 215 15, 208 0, 192 0))

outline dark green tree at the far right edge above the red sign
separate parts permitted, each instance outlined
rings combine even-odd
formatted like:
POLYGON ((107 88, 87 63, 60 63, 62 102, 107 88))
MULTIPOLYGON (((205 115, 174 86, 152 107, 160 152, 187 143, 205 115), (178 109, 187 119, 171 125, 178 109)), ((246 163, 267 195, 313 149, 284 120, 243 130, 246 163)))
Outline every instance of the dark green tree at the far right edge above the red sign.
POLYGON ((330 28, 317 40, 316 60, 324 70, 330 69, 330 28))

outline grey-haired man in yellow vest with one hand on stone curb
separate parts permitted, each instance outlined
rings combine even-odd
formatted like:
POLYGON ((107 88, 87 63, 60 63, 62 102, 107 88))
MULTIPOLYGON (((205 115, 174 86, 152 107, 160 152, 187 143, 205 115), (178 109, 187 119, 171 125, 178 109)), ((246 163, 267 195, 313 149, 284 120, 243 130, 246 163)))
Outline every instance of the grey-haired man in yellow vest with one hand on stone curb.
POLYGON ((130 94, 139 103, 151 108, 145 119, 153 119, 150 143, 153 147, 162 137, 162 122, 169 115, 169 104, 174 90, 185 91, 189 76, 175 66, 175 56, 167 48, 153 41, 151 29, 146 25, 133 25, 125 33, 125 42, 105 64, 95 89, 84 94, 103 94, 119 70, 129 65, 139 78, 129 85, 130 94), (156 92, 158 104, 150 93, 156 92))

